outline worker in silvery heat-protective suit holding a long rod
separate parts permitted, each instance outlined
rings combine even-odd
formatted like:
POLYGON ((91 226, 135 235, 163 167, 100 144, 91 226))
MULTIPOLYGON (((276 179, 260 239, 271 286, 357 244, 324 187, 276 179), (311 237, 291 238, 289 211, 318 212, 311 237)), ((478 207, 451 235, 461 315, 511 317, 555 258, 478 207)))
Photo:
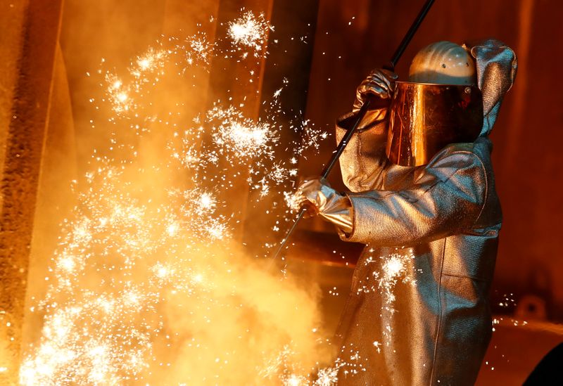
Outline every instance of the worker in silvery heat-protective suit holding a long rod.
POLYGON ((502 222, 488 135, 516 70, 494 39, 426 46, 409 82, 374 70, 336 124, 340 140, 377 99, 340 158, 350 191, 298 187, 296 208, 366 245, 336 333, 339 385, 474 384, 502 222))

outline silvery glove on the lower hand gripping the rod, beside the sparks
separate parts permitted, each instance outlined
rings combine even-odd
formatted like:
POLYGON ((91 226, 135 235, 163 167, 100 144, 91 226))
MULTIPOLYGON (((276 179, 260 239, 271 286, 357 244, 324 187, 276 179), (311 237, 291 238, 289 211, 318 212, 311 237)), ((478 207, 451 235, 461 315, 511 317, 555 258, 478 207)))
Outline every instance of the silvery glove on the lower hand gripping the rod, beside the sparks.
POLYGON ((327 180, 315 178, 303 181, 292 201, 293 210, 305 207, 308 214, 318 214, 345 233, 352 233, 352 204, 346 195, 331 188, 327 180))

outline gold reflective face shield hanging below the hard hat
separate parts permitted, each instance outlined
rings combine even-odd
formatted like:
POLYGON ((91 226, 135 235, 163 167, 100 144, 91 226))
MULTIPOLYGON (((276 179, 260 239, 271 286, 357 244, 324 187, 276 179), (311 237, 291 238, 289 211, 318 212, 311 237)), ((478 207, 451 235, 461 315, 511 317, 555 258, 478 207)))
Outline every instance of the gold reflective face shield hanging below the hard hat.
POLYGON ((450 143, 475 141, 482 126, 483 98, 477 86, 396 82, 387 157, 397 165, 425 165, 450 143))

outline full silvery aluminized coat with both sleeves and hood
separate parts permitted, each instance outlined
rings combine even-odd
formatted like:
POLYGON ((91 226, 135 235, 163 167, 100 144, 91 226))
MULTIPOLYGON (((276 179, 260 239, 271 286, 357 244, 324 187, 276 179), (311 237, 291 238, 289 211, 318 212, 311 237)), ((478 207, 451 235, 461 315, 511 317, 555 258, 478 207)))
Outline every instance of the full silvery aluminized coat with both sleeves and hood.
MULTIPOLYGON (((353 232, 367 247, 341 318, 339 385, 471 385, 491 338, 488 290, 502 221, 493 126, 516 74, 499 41, 474 46, 485 114, 474 143, 419 167, 385 155, 386 123, 368 124, 341 157, 353 232)), ((337 122, 338 139, 350 115, 337 122)))

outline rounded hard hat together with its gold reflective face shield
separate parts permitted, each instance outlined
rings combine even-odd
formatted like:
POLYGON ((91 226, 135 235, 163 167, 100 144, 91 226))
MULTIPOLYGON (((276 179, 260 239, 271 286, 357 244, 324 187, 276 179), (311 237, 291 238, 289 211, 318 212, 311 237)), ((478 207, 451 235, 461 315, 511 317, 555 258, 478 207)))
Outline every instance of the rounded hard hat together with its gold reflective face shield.
POLYGON ((483 124, 475 64, 462 46, 438 41, 412 60, 410 82, 396 82, 386 153, 398 165, 428 163, 450 143, 473 142, 483 124))

